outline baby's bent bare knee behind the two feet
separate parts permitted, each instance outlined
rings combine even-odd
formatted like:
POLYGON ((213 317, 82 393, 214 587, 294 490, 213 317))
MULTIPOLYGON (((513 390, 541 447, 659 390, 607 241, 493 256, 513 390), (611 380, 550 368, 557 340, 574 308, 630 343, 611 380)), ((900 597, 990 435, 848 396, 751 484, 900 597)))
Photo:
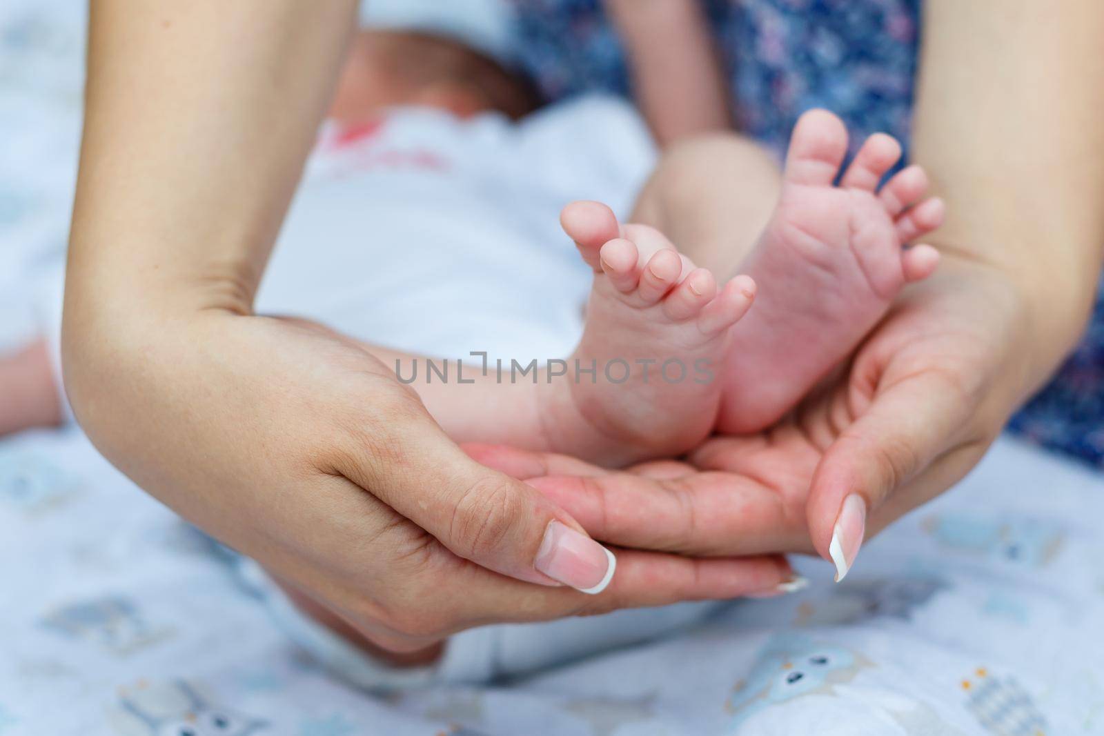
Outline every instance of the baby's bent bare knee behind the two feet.
POLYGON ((754 141, 702 136, 671 146, 637 199, 631 222, 660 231, 720 278, 755 247, 782 191, 782 170, 754 141))

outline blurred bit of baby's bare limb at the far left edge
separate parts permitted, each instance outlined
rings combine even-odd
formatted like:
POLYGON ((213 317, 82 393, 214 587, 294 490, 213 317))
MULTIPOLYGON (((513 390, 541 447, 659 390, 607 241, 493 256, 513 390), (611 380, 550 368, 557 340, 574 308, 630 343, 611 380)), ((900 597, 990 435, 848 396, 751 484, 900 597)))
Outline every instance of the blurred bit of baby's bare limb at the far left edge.
POLYGON ((60 426, 62 416, 45 340, 0 358, 0 437, 60 426))

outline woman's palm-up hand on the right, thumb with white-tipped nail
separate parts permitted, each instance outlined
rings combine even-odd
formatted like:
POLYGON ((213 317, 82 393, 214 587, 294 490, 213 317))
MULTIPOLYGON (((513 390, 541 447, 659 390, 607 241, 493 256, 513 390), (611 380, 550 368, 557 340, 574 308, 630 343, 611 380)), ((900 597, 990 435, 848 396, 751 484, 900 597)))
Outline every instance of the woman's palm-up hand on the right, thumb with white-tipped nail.
POLYGON ((646 519, 662 518, 664 538, 649 538, 665 548, 815 550, 836 557, 841 577, 866 535, 973 468, 1034 387, 1032 313, 1007 274, 951 255, 845 370, 766 433, 716 437, 688 463, 628 473, 505 449, 475 456, 527 479, 599 537, 631 545, 646 519))

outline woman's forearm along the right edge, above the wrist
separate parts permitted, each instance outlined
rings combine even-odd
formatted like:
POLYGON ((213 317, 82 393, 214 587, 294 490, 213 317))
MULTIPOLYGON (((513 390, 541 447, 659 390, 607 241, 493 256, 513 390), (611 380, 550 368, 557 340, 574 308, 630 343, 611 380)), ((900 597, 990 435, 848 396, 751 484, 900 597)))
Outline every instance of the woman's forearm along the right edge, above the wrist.
POLYGON ((1104 248, 1104 4, 928 0, 915 158, 947 201, 936 245, 1031 300, 1031 390, 1076 339, 1104 248))

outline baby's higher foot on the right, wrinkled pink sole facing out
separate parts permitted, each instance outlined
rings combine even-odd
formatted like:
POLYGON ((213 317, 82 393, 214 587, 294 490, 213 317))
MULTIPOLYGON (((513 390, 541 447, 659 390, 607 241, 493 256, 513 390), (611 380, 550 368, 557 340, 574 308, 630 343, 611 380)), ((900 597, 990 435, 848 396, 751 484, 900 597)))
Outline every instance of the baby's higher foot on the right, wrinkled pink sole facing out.
POLYGON ((935 270, 934 248, 904 248, 943 223, 943 202, 924 199, 924 170, 909 167, 879 189, 901 147, 875 135, 837 186, 846 152, 847 129, 835 115, 813 110, 798 120, 778 206, 744 266, 762 294, 732 331, 723 431, 774 424, 854 349, 905 284, 935 270))

